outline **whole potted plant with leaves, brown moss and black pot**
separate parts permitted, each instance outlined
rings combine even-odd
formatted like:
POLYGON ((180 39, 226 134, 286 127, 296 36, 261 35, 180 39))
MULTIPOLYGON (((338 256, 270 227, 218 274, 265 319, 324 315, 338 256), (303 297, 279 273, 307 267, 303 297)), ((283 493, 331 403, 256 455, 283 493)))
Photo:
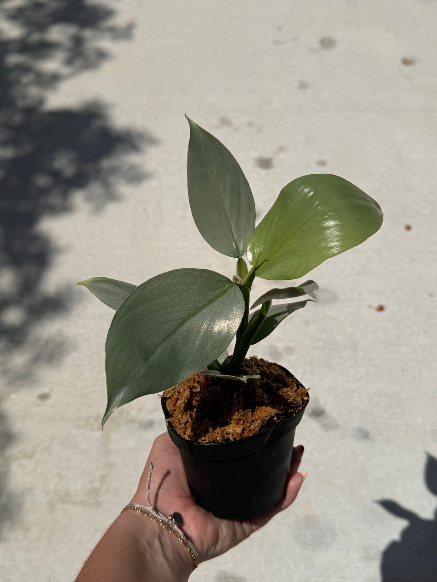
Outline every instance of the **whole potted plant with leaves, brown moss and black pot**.
POLYGON ((184 268, 138 286, 105 277, 79 285, 116 310, 105 346, 102 427, 122 404, 163 392, 167 429, 200 505, 218 517, 248 519, 283 495, 308 392, 285 368, 246 354, 318 289, 309 280, 271 289, 252 304, 253 280, 303 277, 375 233, 382 212, 347 180, 311 174, 284 186, 255 228, 255 203, 237 161, 188 122, 192 215, 206 242, 236 259, 236 274, 184 268), (273 304, 284 299, 294 301, 273 304))

